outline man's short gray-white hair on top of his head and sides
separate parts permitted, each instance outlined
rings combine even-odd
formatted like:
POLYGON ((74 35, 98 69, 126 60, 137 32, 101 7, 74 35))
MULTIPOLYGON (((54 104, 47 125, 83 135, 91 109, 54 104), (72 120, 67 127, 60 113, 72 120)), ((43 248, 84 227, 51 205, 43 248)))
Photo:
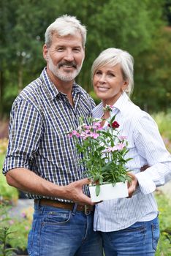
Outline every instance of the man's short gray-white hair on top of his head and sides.
POLYGON ((54 33, 58 34, 58 37, 65 37, 68 35, 74 36, 76 31, 79 31, 81 34, 82 45, 84 48, 87 34, 86 26, 83 26, 80 23, 80 20, 77 20, 74 16, 62 15, 47 27, 45 31, 45 44, 47 45, 47 48, 50 47, 54 33))

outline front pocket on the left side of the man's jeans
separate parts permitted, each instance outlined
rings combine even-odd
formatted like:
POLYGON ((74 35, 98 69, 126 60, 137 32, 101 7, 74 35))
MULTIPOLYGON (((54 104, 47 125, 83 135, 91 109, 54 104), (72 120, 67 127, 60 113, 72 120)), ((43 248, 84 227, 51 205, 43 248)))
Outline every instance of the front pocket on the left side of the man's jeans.
POLYGON ((71 211, 49 211, 45 215, 43 223, 45 225, 64 225, 69 222, 71 215, 71 211))

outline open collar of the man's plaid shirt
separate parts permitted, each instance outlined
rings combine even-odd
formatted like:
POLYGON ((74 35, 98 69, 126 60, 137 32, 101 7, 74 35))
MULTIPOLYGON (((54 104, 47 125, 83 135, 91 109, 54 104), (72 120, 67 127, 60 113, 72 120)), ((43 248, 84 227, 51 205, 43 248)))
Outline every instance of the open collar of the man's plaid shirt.
MULTIPOLYGON (((61 93, 61 91, 58 91, 54 83, 50 80, 49 76, 47 75, 46 67, 42 70, 40 79, 44 82, 45 87, 47 89, 47 93, 49 94, 51 99, 55 99, 58 95, 63 94, 61 93)), ((80 86, 78 86, 77 83, 75 83, 74 81, 72 86, 72 94, 77 94, 77 93, 80 93, 80 86)))

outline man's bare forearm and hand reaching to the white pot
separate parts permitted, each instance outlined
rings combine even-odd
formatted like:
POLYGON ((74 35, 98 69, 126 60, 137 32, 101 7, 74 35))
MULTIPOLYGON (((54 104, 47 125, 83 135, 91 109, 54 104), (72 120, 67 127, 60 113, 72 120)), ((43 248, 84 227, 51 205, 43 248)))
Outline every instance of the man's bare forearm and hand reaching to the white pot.
POLYGON ((57 197, 81 204, 93 204, 91 198, 83 194, 83 185, 90 183, 88 178, 72 182, 66 186, 59 186, 53 184, 53 182, 46 181, 26 168, 9 170, 6 178, 10 186, 35 195, 57 197))

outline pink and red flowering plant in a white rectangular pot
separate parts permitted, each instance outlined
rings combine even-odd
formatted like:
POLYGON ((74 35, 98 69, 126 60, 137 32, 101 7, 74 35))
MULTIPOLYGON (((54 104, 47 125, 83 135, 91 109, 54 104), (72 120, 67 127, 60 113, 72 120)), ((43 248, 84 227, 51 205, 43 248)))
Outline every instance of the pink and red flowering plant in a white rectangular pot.
MULTIPOLYGON (((107 105, 104 110, 111 111, 107 105)), ((128 142, 125 136, 120 136, 119 124, 115 116, 108 120, 106 128, 102 127, 102 119, 90 118, 90 125, 83 123, 77 130, 69 131, 69 137, 75 138, 77 151, 83 154, 80 164, 86 167, 91 200, 97 202, 119 197, 127 197, 127 182, 131 177, 127 174, 126 153, 128 142)))

